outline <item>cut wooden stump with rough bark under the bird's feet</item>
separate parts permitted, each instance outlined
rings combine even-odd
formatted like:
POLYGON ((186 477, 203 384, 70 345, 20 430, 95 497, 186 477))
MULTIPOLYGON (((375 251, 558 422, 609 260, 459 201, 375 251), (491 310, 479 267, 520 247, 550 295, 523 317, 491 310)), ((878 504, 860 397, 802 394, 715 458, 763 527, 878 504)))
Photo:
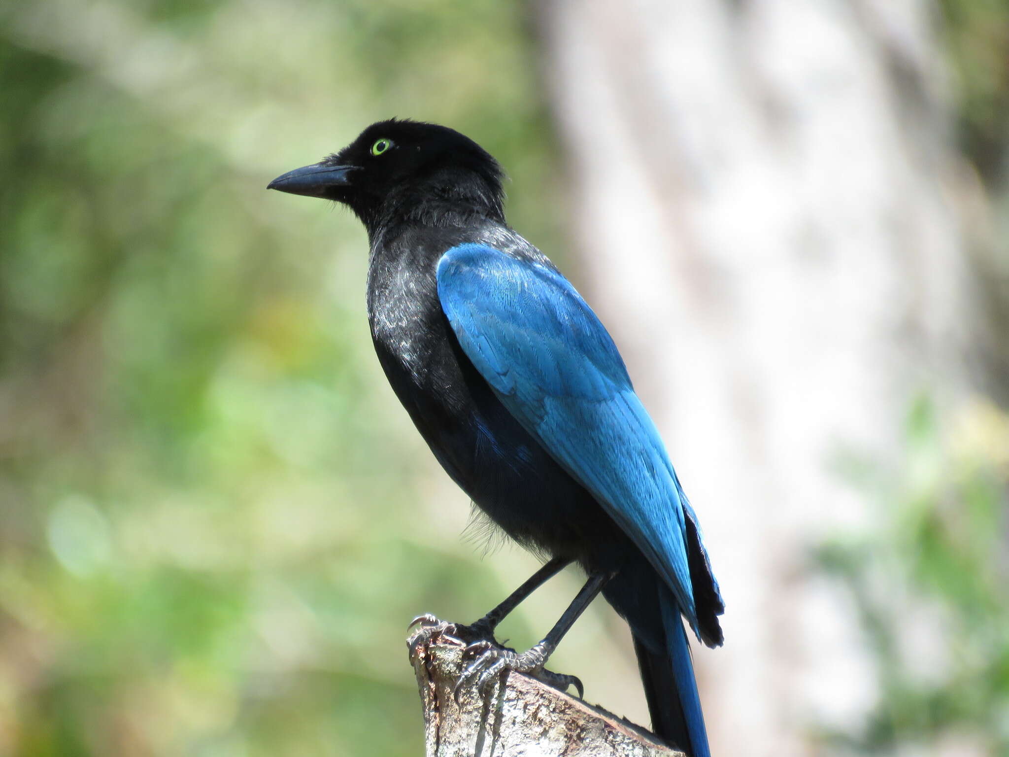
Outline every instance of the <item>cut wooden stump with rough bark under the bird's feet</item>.
POLYGON ((522 673, 498 676, 483 695, 467 690, 456 706, 463 645, 419 631, 408 647, 427 757, 683 757, 645 729, 522 673))

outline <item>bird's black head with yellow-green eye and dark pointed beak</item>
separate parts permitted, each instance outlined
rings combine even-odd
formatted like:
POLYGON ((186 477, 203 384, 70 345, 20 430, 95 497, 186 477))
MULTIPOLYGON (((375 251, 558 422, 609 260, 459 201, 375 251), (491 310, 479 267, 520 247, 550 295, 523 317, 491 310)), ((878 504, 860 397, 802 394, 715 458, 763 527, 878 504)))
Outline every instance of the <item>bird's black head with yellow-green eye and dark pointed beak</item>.
POLYGON ((373 232, 399 219, 448 225, 476 214, 503 222, 501 176, 497 161, 458 131, 393 118, 267 189, 343 203, 373 232))

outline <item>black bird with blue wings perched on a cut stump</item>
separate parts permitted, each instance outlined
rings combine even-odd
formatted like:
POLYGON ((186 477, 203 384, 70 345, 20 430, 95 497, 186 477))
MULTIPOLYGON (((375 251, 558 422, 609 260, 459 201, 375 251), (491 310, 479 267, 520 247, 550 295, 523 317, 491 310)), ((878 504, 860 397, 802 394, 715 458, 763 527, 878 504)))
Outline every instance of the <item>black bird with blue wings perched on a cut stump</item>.
POLYGON ((519 670, 581 694, 580 681, 544 664, 601 593, 630 625, 653 731, 708 757, 683 624, 720 646, 724 603, 697 517, 609 333, 508 225, 502 181, 462 133, 391 118, 267 189, 332 200, 360 219, 368 322, 395 394, 459 488, 546 559, 466 627, 475 659, 459 685, 519 670), (500 620, 571 563, 586 582, 544 639, 523 653, 497 645, 500 620))

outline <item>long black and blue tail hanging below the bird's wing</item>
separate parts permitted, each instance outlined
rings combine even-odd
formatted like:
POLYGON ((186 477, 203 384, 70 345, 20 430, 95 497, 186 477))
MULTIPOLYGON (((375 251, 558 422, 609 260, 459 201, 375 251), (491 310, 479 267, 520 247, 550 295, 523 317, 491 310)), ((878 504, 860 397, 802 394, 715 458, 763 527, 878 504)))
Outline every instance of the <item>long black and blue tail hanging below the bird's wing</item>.
POLYGON ((665 648, 653 651, 635 637, 652 730, 688 757, 710 757, 683 621, 676 600, 665 587, 659 590, 659 603, 665 648))

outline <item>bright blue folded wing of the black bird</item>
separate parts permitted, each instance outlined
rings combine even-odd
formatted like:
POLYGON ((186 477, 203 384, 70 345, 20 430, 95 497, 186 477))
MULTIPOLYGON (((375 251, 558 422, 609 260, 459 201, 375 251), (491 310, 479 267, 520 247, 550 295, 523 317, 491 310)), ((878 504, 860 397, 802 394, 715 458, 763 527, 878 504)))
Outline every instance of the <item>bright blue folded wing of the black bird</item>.
POLYGON ((504 407, 632 538, 696 632, 689 505, 599 319, 554 268, 480 244, 442 256, 438 296, 504 407))

